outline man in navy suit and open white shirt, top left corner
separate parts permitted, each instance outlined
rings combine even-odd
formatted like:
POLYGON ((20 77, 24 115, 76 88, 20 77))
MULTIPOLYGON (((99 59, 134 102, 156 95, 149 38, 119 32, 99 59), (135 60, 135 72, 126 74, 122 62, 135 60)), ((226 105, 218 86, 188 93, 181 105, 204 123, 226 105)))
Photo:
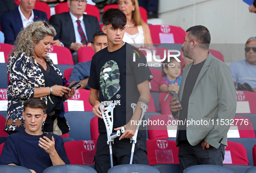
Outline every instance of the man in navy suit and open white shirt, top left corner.
MULTIPOLYGON (((13 44, 19 31, 26 28, 29 22, 45 20, 48 22, 45 12, 34 9, 36 0, 19 0, 20 5, 13 11, 1 17, 1 27, 4 33, 5 43, 13 44)), ((52 42, 54 45, 62 46, 59 40, 52 42)))

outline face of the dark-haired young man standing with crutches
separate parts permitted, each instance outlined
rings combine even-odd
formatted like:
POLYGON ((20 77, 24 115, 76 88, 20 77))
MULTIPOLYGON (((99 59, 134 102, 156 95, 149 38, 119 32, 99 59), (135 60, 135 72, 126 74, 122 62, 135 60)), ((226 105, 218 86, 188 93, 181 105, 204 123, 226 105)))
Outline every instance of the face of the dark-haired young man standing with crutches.
POLYGON ((107 34, 107 42, 108 44, 115 44, 118 45, 120 43, 123 43, 123 35, 124 35, 124 29, 123 28, 114 28, 112 24, 109 24, 107 26, 102 27, 102 31, 107 34))

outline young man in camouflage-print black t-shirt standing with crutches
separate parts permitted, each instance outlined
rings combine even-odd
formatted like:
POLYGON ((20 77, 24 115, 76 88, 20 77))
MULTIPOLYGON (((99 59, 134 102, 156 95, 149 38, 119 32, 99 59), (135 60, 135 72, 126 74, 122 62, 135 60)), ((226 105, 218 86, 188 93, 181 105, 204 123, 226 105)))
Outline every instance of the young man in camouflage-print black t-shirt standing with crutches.
MULTIPOLYGON (((135 134, 136 123, 143 112, 141 104, 149 103, 149 81, 153 76, 146 66, 143 53, 122 41, 126 25, 125 14, 119 9, 108 9, 103 14, 102 21, 108 47, 95 53, 92 58, 88 85, 91 88, 89 101, 93 106, 93 113, 99 117, 100 135, 97 139, 95 168, 98 173, 107 173, 110 169, 110 151, 106 127, 98 106, 115 104, 113 132, 121 130, 122 126, 125 126, 125 131, 112 143, 113 166, 129 164, 132 148, 130 138, 135 134), (145 65, 138 66, 139 64, 145 65), (134 113, 132 103, 137 104, 134 113)), ((146 156, 146 131, 139 130, 136 140, 133 164, 149 164, 146 156)))

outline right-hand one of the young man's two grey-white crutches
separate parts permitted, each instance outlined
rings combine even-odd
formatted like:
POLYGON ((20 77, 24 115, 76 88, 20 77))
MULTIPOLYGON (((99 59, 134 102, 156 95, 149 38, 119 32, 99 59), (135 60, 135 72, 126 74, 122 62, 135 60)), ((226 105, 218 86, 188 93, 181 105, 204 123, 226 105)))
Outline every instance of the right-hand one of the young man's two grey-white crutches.
MULTIPOLYGON (((135 108, 136 108, 136 104, 132 103, 131 107, 133 108, 133 113, 134 113, 135 108)), ((131 158, 130 158, 130 164, 133 164, 133 154, 134 154, 135 144, 137 142, 137 135, 138 135, 138 131, 139 131, 139 124, 142 122, 143 116, 145 115, 146 111, 149 109, 149 107, 146 104, 141 104, 140 107, 142 108, 142 114, 140 116, 139 123, 138 123, 138 125, 136 127, 136 132, 135 132, 134 136, 130 138, 131 142, 133 142, 132 151, 131 151, 131 158)), ((121 129, 121 132, 123 133, 124 131, 125 131, 125 128, 123 126, 122 129, 121 129)))

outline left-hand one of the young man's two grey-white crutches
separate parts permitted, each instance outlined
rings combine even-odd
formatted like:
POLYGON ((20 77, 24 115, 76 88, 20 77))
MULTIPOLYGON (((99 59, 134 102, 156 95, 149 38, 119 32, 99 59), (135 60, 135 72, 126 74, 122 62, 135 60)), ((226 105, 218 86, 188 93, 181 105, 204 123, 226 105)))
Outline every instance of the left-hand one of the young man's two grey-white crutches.
POLYGON ((111 142, 114 143, 114 138, 120 136, 120 130, 117 132, 112 133, 113 129, 113 110, 115 108, 115 104, 110 104, 108 107, 105 107, 105 111, 103 112, 104 106, 102 104, 99 105, 99 110, 103 117, 106 129, 107 129, 107 144, 109 145, 109 152, 110 152, 110 165, 113 167, 113 157, 112 157, 112 145, 111 142), (110 113, 110 114, 109 114, 110 113), (111 118, 111 120, 110 120, 111 118))

